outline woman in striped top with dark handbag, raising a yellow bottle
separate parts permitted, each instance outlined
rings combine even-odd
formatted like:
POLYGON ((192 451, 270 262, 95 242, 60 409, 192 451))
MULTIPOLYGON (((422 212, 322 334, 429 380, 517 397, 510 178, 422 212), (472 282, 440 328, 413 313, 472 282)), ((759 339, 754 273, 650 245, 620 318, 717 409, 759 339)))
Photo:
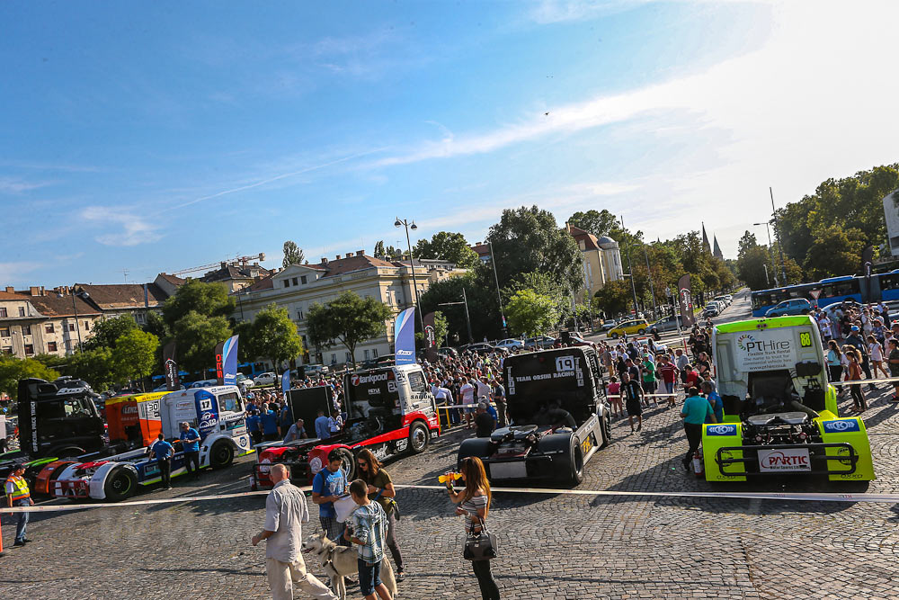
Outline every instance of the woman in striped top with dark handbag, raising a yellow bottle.
POLYGON ((465 517, 467 560, 471 560, 482 600, 499 600, 500 590, 490 574, 490 559, 496 555, 495 538, 487 532, 485 520, 490 512, 490 482, 484 463, 476 456, 462 459, 460 463, 465 489, 457 492, 452 487, 454 473, 447 473, 446 485, 449 499, 458 504, 456 514, 465 517))

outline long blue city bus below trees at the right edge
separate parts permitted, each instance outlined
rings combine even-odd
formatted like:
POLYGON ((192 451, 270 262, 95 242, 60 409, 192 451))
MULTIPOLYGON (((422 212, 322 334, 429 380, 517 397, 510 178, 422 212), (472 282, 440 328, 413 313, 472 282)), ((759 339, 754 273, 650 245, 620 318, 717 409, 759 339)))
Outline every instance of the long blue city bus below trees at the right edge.
MULTIPOLYGON (((829 277, 816 283, 798 283, 782 288, 753 291, 752 317, 761 318, 765 313, 777 306, 783 300, 792 298, 805 298, 823 308, 835 302, 855 300, 861 303, 861 291, 864 288, 865 278, 854 275, 841 275, 829 277), (820 290, 821 295, 815 300, 811 291, 820 290)), ((883 300, 885 302, 899 301, 899 269, 889 273, 875 273, 871 275, 871 291, 867 299, 870 301, 883 300)))

